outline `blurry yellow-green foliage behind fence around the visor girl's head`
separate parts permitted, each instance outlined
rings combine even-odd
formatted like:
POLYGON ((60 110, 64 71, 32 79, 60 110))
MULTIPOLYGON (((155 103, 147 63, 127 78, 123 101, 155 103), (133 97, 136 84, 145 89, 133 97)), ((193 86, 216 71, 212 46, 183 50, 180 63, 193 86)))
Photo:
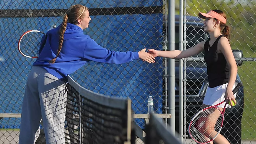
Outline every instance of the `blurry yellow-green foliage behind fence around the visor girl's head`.
POLYGON ((222 10, 227 15, 227 25, 231 27, 232 49, 245 50, 247 53, 254 52, 255 46, 255 1, 218 1, 197 0, 187 1, 187 15, 197 16, 199 12, 208 12, 211 9, 222 10))

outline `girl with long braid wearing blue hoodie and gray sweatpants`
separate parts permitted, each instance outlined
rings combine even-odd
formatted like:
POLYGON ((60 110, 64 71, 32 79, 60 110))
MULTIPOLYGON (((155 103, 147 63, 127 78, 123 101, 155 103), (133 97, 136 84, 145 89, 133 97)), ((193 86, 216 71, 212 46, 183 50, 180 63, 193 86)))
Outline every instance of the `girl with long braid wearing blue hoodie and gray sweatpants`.
POLYGON ((20 144, 33 144, 43 120, 46 143, 63 144, 67 75, 89 61, 121 64, 138 60, 154 63, 145 52, 110 51, 83 33, 91 17, 87 7, 71 6, 57 28, 49 30, 44 47, 28 75, 20 123, 20 144))

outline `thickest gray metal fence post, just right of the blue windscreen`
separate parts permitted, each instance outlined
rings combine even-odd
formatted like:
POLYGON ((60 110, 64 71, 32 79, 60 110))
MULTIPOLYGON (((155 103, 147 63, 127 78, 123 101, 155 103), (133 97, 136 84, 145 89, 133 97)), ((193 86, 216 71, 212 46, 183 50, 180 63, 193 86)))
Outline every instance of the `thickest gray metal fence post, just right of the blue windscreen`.
MULTIPOLYGON (((175 1, 168 0, 168 50, 174 50, 174 27, 175 27, 175 1)), ((169 113, 173 118, 169 119, 170 129, 175 134, 175 60, 168 59, 168 97, 169 97, 169 113)))

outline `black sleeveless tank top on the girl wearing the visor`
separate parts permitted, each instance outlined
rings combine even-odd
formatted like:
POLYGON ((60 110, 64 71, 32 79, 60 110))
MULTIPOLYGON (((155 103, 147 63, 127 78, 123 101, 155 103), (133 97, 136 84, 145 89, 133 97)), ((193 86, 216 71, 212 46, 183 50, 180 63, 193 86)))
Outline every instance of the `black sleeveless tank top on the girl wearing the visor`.
POLYGON ((206 40, 204 45, 205 62, 207 64, 207 75, 209 87, 216 87, 228 83, 229 80, 229 65, 222 53, 217 52, 218 41, 223 35, 220 35, 213 45, 209 46, 209 40, 206 40))

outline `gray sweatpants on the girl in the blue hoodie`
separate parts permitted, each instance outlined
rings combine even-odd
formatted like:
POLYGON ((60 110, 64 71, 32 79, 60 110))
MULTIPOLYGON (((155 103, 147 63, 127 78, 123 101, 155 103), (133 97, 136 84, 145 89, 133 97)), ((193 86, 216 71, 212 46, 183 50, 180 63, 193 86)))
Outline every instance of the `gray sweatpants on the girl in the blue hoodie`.
POLYGON ((19 144, 33 144, 43 120, 46 143, 65 143, 66 82, 33 66, 22 104, 19 144))

